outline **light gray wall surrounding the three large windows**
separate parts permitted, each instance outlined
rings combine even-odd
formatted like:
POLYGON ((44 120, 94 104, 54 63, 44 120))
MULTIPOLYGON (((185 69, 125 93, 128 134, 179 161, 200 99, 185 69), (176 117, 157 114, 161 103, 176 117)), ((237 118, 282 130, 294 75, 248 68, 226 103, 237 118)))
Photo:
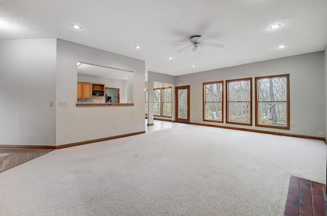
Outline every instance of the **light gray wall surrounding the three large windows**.
MULTIPOLYGON (((177 76, 175 84, 176 86, 191 86, 191 122, 318 137, 318 132, 326 131, 327 99, 325 73, 323 52, 320 51, 305 55, 177 76), (255 126, 241 126, 236 124, 203 122, 203 83, 252 77, 252 122, 254 125, 254 77, 287 73, 290 74, 290 122, 291 124, 295 124, 295 128, 283 130, 255 126)), ((224 90, 225 85, 226 82, 224 82, 224 90)), ((224 98, 225 96, 226 95, 224 95, 224 98)), ((224 107, 224 111, 225 110, 224 107)), ((226 118, 226 115, 224 115, 224 118, 226 118)), ((224 122, 226 122, 225 119, 224 122)))

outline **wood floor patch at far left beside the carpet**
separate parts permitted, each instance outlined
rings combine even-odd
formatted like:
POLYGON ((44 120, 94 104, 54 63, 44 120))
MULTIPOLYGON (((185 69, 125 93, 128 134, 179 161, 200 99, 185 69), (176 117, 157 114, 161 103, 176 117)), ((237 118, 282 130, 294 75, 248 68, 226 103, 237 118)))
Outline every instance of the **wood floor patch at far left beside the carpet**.
POLYGON ((0 153, 9 154, 0 157, 0 173, 49 153, 48 149, 0 149, 0 153))

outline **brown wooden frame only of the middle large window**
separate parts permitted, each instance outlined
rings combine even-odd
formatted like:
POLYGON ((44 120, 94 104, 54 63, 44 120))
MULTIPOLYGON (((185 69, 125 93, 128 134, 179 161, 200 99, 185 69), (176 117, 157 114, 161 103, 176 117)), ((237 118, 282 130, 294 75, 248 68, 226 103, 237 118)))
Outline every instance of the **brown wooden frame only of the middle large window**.
POLYGON ((252 126, 252 77, 226 80, 226 123, 227 124, 252 126), (242 81, 250 81, 250 101, 229 101, 229 83, 242 82, 242 81), (250 122, 249 123, 229 121, 229 103, 230 102, 248 102, 249 103, 249 106, 250 106, 250 113, 249 113, 250 114, 250 122))

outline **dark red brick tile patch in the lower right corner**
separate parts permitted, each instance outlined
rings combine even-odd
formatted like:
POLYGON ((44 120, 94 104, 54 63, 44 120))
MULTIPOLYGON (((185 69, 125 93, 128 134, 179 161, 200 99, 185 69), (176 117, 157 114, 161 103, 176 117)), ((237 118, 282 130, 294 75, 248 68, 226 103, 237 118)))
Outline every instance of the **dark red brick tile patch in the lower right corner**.
POLYGON ((326 216, 326 185, 291 176, 285 216, 326 216))

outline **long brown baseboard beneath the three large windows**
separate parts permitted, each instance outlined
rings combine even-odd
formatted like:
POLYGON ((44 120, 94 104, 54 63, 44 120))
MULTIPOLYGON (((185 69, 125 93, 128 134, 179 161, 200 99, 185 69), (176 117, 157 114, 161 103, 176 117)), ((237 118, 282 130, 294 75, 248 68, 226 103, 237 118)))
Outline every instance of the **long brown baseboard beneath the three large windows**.
POLYGON ((254 129, 230 127, 230 126, 222 126, 222 125, 202 124, 202 123, 195 123, 195 122, 190 122, 190 124, 196 124, 196 125, 202 125, 202 126, 208 126, 208 127, 219 127, 219 128, 225 128, 225 129, 233 129, 233 130, 244 130, 244 131, 249 131, 249 132, 257 132, 257 133, 268 133, 268 134, 287 136, 287 137, 322 140, 322 141, 326 142, 326 139, 323 137, 313 137, 313 136, 299 135, 299 134, 293 134, 293 133, 281 133, 281 132, 273 132, 273 131, 265 131, 265 130, 254 130, 254 129))

